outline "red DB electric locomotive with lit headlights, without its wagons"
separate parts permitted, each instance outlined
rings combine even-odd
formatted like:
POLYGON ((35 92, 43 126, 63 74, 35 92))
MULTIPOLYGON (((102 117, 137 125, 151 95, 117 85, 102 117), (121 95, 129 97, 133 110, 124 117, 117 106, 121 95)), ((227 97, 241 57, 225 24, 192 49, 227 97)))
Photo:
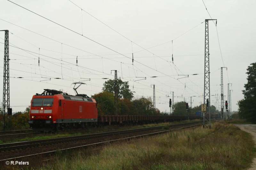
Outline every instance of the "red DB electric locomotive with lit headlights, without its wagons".
POLYGON ((42 94, 33 96, 29 117, 30 127, 39 131, 84 127, 98 121, 97 103, 86 94, 76 92, 76 96, 73 96, 44 89, 42 94))

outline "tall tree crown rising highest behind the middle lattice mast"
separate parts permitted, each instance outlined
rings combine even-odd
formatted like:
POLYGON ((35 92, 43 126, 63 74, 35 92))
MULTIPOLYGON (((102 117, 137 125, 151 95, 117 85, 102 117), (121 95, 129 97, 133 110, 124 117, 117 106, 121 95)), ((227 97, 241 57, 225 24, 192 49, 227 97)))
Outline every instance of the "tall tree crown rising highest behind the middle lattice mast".
MULTIPOLYGON (((123 82, 120 78, 117 79, 117 90, 118 90, 118 98, 121 99, 126 98, 128 100, 132 100, 133 93, 129 89, 128 81, 123 82)), ((115 80, 105 81, 102 88, 103 92, 115 92, 115 80)))

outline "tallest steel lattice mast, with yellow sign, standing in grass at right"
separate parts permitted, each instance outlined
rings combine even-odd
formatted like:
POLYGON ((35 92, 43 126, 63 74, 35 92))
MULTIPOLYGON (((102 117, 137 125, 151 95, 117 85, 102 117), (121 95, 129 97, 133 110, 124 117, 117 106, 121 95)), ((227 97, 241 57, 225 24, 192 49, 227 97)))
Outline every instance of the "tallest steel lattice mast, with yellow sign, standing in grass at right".
MULTIPOLYGON (((204 116, 205 121, 209 122, 209 129, 211 129, 211 100, 210 100, 210 53, 209 53, 209 27, 208 21, 217 19, 205 19, 205 39, 204 39, 204 103, 209 99, 209 120, 204 116)), ((207 111, 207 109, 206 109, 207 111)), ((206 126, 208 128, 208 126, 206 126)))

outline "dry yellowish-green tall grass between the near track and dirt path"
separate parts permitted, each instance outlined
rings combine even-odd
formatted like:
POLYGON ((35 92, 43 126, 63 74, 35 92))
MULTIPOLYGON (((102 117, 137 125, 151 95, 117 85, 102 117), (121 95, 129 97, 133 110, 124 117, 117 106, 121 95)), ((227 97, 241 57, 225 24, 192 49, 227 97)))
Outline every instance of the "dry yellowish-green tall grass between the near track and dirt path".
POLYGON ((226 122, 171 131, 157 137, 134 139, 58 153, 39 169, 244 169, 255 155, 252 137, 226 122))

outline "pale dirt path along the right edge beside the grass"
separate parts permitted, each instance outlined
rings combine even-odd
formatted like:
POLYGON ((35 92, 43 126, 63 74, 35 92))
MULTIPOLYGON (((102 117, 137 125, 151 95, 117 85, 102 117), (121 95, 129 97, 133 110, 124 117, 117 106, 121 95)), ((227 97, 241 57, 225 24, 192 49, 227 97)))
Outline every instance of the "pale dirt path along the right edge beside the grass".
MULTIPOLYGON (((241 130, 244 130, 250 133, 253 137, 255 146, 256 146, 256 124, 236 124, 241 130)), ((256 169, 256 158, 253 158, 251 167, 248 170, 255 170, 256 169)))

